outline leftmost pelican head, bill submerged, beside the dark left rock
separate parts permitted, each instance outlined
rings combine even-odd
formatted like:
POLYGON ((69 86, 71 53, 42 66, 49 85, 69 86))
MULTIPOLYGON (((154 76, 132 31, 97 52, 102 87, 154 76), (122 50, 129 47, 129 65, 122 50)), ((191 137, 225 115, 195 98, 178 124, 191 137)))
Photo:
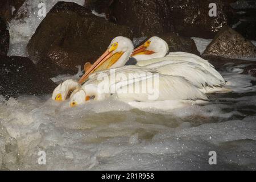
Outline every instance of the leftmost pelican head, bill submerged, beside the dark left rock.
POLYGON ((66 80, 64 82, 61 82, 61 84, 58 85, 56 89, 53 91, 52 100, 65 101, 71 96, 74 90, 80 88, 81 85, 74 80, 66 80))

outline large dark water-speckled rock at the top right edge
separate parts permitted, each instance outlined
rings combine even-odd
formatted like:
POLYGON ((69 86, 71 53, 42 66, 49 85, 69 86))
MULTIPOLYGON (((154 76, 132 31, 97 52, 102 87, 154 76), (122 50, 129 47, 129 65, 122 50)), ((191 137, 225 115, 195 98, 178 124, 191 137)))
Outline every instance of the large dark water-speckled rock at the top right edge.
POLYGON ((171 10, 171 22, 175 32, 183 36, 213 38, 226 25, 233 23, 233 10, 229 3, 234 0, 166 0, 171 10), (209 4, 216 3, 217 16, 209 16, 209 4))

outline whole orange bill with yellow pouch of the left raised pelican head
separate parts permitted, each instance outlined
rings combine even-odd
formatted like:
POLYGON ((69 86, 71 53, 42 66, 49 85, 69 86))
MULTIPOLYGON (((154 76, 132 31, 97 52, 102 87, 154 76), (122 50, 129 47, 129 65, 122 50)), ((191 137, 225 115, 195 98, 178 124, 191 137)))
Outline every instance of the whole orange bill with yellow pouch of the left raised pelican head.
POLYGON ((85 72, 85 75, 82 76, 79 80, 79 83, 82 84, 89 76, 95 71, 101 71, 104 69, 109 69, 118 59, 123 55, 123 52, 113 53, 109 49, 101 55, 99 59, 85 72))

